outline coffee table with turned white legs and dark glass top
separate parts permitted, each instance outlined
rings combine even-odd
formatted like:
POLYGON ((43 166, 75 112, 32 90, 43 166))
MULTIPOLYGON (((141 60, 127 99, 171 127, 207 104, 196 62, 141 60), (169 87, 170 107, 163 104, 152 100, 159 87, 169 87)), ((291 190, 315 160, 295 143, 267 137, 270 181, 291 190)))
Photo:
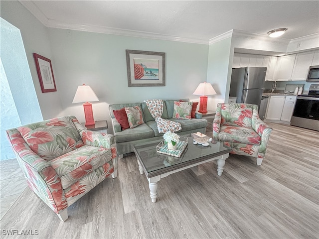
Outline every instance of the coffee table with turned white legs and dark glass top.
POLYGON ((190 135, 182 135, 181 137, 188 138, 188 145, 180 157, 158 153, 156 146, 161 140, 136 144, 134 146, 140 173, 145 173, 148 178, 153 203, 157 199, 158 182, 161 178, 172 173, 212 160, 217 160, 217 174, 219 176, 224 171, 225 160, 231 151, 230 147, 225 146, 223 142, 214 140, 208 146, 202 146, 200 144, 193 144, 193 138, 190 135))

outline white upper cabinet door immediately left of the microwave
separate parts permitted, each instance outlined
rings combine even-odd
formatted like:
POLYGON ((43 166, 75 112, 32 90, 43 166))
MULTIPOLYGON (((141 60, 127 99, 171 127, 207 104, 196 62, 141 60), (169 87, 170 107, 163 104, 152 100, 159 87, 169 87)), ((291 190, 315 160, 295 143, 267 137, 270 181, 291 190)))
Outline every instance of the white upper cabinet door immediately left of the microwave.
POLYGON ((308 51, 297 53, 293 73, 291 76, 292 81, 306 81, 309 67, 312 65, 315 52, 308 51))

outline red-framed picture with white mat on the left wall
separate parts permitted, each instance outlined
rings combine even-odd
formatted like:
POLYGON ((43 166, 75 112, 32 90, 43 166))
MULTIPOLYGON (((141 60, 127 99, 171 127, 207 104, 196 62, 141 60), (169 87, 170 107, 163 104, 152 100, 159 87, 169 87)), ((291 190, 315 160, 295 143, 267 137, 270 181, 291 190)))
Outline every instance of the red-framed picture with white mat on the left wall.
POLYGON ((51 60, 33 53, 42 93, 56 91, 51 60))

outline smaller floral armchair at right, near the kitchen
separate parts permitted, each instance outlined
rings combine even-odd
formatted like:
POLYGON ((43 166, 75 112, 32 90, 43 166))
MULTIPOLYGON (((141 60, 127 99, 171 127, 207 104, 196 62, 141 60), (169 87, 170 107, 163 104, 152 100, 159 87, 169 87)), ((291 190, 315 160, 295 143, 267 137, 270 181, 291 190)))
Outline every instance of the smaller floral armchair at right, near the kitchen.
POLYGON ((261 165, 272 128, 259 119, 257 105, 218 104, 213 121, 213 138, 223 141, 230 153, 257 158, 261 165))

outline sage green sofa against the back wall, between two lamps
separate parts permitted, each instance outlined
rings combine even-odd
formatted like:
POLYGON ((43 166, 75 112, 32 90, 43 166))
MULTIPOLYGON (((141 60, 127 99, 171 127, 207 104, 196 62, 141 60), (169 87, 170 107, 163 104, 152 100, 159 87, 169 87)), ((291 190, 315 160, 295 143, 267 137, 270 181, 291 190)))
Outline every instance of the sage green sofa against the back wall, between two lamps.
MULTIPOLYGON (((174 101, 179 100, 163 100, 163 114, 161 118, 179 122, 182 129, 176 133, 179 135, 189 134, 192 132, 206 132, 207 120, 202 119, 202 114, 196 112, 195 119, 172 119, 174 112, 174 101)), ((189 99, 182 99, 189 101, 189 99)), ((155 119, 151 116, 145 102, 130 104, 114 104, 109 106, 110 116, 112 119, 113 134, 116 138, 116 151, 120 158, 123 154, 134 152, 133 146, 137 143, 148 142, 150 140, 162 139, 163 133, 160 133, 155 119), (124 107, 141 108, 143 120, 145 123, 135 127, 122 130, 120 123, 115 119, 113 110, 120 110, 124 107)))

